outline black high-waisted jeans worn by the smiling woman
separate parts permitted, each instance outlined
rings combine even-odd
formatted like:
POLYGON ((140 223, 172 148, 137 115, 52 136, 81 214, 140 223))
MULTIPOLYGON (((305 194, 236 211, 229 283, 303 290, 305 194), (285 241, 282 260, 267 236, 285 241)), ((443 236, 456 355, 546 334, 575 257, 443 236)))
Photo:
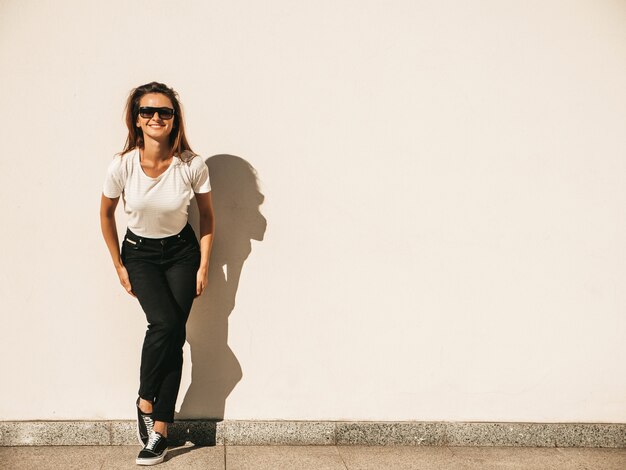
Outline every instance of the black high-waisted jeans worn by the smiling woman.
POLYGON ((148 320, 139 396, 153 402, 155 421, 172 423, 183 367, 185 325, 196 295, 200 245, 189 224, 178 235, 158 239, 127 230, 121 256, 148 320))

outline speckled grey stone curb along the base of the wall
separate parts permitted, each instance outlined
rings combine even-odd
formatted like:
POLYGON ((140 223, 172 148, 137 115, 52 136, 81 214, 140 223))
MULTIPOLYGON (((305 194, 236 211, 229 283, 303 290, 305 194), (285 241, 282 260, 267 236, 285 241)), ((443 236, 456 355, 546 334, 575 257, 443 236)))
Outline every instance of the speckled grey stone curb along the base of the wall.
MULTIPOLYGON (((419 421, 177 421, 172 443, 626 447, 626 424, 419 421)), ((134 421, 0 421, 0 446, 133 445, 134 421)))

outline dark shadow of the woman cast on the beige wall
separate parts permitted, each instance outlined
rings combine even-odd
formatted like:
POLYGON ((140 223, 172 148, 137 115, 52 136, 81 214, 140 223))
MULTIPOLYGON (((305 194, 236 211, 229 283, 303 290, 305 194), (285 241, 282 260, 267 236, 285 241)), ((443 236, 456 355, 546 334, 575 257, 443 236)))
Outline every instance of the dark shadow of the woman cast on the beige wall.
MULTIPOLYGON (((206 163, 216 227, 209 284, 195 300, 187 322, 191 384, 176 419, 224 419, 226 398, 242 377, 239 361, 228 347, 228 317, 235 307, 243 264, 252 251, 251 240, 262 241, 267 227, 259 211, 264 196, 256 170, 234 155, 215 155, 206 163)), ((189 222, 199 234, 197 208, 190 207, 189 222)))

